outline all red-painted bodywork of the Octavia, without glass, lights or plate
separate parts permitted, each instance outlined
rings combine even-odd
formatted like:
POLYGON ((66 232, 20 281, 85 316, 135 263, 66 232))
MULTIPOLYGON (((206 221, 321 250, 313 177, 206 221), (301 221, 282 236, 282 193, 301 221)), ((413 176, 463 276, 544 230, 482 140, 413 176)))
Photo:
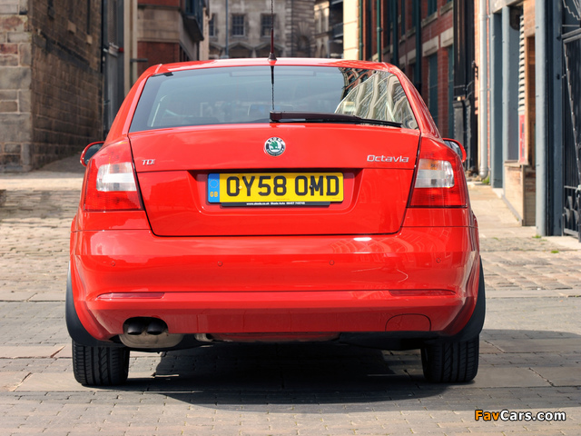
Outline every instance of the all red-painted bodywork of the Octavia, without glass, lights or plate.
MULTIPOLYGON (((430 150, 446 145, 397 68, 346 60, 275 63, 396 74, 418 130, 222 124, 129 134, 153 74, 270 64, 231 59, 157 65, 133 85, 102 151, 131 144, 143 210, 84 211, 85 180, 70 258, 74 308, 84 329, 107 341, 123 333, 128 319, 153 317, 166 322, 170 333, 220 333, 240 341, 289 340, 302 333, 321 340, 340 332, 460 332, 478 296, 478 225, 469 204, 408 206, 419 144, 430 150), (284 138, 285 154, 264 153, 272 136, 284 138), (224 208, 206 198, 208 173, 321 170, 344 174, 342 203, 224 208)), ((463 177, 459 182, 465 189, 463 177)))

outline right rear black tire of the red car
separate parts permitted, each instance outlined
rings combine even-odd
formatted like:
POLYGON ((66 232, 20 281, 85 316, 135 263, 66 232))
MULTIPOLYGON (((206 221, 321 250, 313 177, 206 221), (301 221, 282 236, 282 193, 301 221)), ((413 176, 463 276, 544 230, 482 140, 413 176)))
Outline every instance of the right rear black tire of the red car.
POLYGON ((471 381, 478 372, 480 336, 468 341, 436 342, 421 350, 424 377, 434 383, 471 381))

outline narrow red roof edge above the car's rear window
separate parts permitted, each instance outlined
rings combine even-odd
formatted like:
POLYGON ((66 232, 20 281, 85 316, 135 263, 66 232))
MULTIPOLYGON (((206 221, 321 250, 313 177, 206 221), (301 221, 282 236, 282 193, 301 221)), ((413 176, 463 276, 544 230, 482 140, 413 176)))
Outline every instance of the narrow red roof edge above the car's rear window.
POLYGON ((343 68, 365 68, 371 70, 384 70, 396 73, 398 68, 382 62, 356 61, 349 59, 318 59, 312 57, 281 57, 275 61, 269 61, 265 57, 216 59, 210 61, 181 62, 175 64, 158 64, 147 70, 148 75, 173 73, 183 70, 195 70, 200 68, 216 68, 229 66, 258 66, 258 65, 297 65, 297 66, 336 66, 343 68))

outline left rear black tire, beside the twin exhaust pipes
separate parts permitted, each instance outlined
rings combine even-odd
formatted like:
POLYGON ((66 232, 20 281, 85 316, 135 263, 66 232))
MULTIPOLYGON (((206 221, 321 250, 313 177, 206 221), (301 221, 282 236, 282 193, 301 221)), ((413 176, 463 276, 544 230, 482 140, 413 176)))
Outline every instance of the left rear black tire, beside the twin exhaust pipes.
POLYGON ((73 341, 73 372, 76 381, 84 386, 123 384, 129 372, 129 349, 73 341))

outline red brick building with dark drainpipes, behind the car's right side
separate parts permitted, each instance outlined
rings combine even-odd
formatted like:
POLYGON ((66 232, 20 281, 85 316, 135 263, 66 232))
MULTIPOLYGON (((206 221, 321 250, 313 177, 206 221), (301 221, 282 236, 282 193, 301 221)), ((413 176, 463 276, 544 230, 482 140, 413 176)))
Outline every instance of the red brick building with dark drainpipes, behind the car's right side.
POLYGON ((476 171, 472 2, 345 0, 343 7, 345 57, 398 66, 428 104, 440 134, 464 144, 467 168, 476 171))

